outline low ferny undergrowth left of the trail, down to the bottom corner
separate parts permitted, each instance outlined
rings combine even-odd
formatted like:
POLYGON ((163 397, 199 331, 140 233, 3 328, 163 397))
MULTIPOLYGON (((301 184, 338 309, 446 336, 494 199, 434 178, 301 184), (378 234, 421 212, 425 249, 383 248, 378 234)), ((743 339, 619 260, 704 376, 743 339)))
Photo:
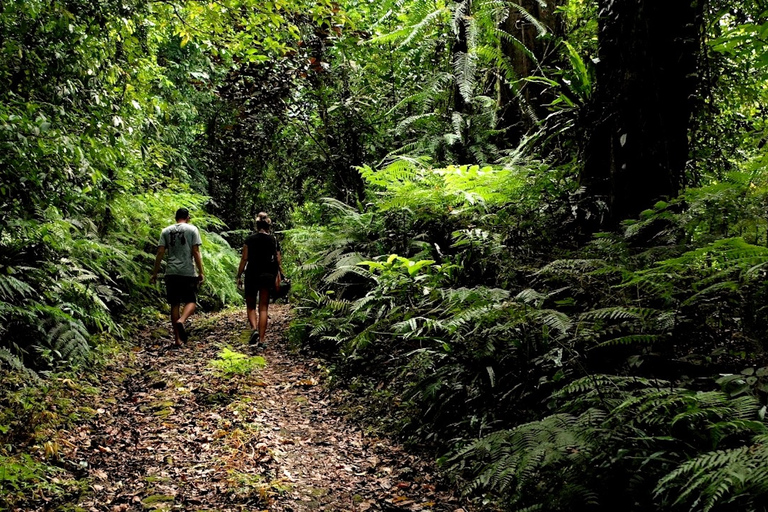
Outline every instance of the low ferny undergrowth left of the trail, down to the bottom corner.
POLYGON ((204 201, 189 192, 123 196, 110 205, 106 233, 51 207, 14 222, 15 236, 0 240, 0 508, 86 490, 87 468, 59 456, 61 433, 95 414, 90 382, 99 361, 140 325, 167 317, 162 285, 148 281, 176 205, 192 208, 201 228, 201 306, 241 300, 232 280, 237 255, 214 232, 221 225, 204 201), (82 479, 63 476, 73 471, 82 479))

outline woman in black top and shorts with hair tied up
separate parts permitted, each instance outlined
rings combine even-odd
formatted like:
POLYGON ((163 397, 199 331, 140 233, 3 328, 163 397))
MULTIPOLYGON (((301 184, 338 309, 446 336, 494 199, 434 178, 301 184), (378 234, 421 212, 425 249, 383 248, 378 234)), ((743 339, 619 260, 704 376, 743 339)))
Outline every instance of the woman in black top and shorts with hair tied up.
POLYGON ((277 240, 271 234, 272 221, 266 213, 256 215, 256 233, 245 240, 240 267, 237 270, 237 286, 241 287, 243 270, 245 270, 245 305, 248 312, 248 322, 253 333, 249 343, 255 342, 259 336, 259 348, 264 348, 264 338, 267 332, 267 309, 269 294, 280 289, 280 274, 282 274, 282 256, 277 240), (258 317, 256 304, 258 300, 258 317))

